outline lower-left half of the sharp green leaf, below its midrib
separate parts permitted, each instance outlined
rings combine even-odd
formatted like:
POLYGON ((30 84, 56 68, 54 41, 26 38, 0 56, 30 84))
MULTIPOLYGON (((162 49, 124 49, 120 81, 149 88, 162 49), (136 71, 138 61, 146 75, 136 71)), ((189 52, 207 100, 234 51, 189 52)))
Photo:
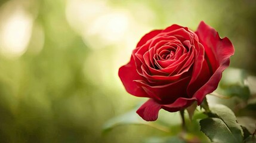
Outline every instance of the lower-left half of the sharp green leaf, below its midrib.
POLYGON ((212 142, 218 143, 240 143, 232 134, 228 126, 219 118, 206 118, 200 121, 201 131, 211 139, 212 142))

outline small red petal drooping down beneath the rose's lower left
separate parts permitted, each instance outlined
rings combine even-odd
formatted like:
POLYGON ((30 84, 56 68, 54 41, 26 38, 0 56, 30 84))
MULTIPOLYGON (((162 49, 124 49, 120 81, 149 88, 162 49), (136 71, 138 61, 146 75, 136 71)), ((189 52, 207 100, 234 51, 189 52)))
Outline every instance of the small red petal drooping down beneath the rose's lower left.
POLYGON ((161 105, 155 102, 153 99, 149 99, 137 110, 137 114, 146 121, 155 121, 158 119, 158 112, 161 109, 161 105))

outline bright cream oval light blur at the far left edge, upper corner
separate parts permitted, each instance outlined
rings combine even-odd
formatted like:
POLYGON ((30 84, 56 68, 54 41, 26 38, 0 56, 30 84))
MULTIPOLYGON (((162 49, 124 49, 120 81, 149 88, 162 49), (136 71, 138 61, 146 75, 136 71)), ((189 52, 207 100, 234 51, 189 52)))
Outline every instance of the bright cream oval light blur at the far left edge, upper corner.
POLYGON ((24 7, 13 2, 7 2, 0 11, 1 53, 6 57, 20 57, 29 43, 33 18, 24 7))

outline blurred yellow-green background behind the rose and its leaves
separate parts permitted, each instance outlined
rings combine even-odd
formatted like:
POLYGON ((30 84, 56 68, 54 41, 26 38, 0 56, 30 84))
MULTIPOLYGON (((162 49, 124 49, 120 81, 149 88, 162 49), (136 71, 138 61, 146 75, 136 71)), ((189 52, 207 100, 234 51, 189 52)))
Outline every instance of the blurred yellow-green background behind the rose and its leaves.
MULTIPOLYGON (((201 20, 235 45, 231 66, 256 73, 256 1, 0 1, 0 142, 142 142, 149 126, 106 120, 140 101, 118 69, 152 29, 201 20)), ((170 119, 171 122, 171 119, 170 119)))

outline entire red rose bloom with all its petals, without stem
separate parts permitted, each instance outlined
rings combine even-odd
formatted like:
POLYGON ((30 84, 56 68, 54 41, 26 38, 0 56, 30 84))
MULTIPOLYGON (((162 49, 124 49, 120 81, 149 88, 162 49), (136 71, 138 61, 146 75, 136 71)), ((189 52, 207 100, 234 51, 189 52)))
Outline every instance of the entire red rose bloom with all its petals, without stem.
POLYGON ((118 74, 129 94, 150 98, 137 113, 153 121, 161 108, 200 105, 217 88, 234 52, 229 39, 203 21, 196 32, 174 24, 144 35, 118 74))

